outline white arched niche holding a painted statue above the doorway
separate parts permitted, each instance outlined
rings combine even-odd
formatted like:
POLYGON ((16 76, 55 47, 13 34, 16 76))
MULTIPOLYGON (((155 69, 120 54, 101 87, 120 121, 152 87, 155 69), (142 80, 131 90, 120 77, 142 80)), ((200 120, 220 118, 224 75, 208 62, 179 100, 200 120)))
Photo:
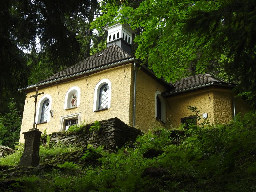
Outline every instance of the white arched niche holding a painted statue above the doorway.
POLYGON ((80 104, 80 93, 79 87, 71 87, 65 95, 64 109, 78 107, 80 104))

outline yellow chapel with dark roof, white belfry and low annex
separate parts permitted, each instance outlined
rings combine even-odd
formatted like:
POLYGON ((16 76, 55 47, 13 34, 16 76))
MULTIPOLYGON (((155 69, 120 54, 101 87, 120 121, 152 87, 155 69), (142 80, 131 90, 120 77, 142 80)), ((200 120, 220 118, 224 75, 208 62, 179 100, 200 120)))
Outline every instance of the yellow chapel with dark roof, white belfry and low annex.
POLYGON ((65 131, 76 124, 90 124, 113 117, 143 132, 156 127, 175 128, 193 120, 188 106, 197 107, 202 120, 228 123, 249 106, 236 99, 232 88, 209 73, 190 76, 170 84, 133 56, 132 37, 136 31, 128 24, 105 26, 107 48, 72 67, 60 71, 26 89, 22 132, 33 127, 34 99, 37 98, 35 124, 39 131, 65 131))

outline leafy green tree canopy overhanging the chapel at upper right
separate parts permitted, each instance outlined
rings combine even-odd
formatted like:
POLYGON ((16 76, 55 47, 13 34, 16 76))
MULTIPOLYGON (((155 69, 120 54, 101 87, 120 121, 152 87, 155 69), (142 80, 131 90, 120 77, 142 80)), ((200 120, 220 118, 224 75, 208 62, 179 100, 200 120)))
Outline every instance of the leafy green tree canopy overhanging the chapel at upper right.
POLYGON ((255 0, 145 0, 134 5, 103 1, 103 15, 92 28, 119 21, 137 29, 135 56, 157 77, 174 82, 191 66, 199 74, 209 66, 216 70, 217 63, 240 84, 240 92, 255 98, 255 0))

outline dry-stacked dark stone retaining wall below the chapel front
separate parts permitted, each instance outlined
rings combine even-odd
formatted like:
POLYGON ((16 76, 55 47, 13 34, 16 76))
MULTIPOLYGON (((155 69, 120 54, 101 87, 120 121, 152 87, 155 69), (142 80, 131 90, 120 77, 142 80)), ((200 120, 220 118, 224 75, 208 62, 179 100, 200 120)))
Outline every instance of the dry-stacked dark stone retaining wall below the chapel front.
POLYGON ((115 151, 121 148, 127 141, 134 141, 135 138, 142 134, 139 129, 130 127, 117 117, 100 121, 99 131, 89 131, 94 124, 89 124, 77 133, 67 131, 54 132, 51 135, 50 144, 58 145, 77 145, 87 147, 91 144, 94 148, 104 146, 107 151, 115 151))

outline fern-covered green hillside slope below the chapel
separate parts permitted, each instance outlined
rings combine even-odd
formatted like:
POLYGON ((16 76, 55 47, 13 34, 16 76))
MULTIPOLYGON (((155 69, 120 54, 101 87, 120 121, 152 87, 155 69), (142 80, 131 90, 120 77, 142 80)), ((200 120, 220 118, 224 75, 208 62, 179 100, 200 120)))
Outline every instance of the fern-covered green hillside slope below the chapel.
MULTIPOLYGON (((41 165, 3 171, 14 191, 255 191, 256 113, 228 125, 190 125, 149 132, 116 153, 102 148, 44 146, 41 165), (182 129, 182 127, 181 127, 182 129), (53 164, 53 165, 44 165, 53 164)), ((0 159, 17 165, 20 151, 0 159), (15 161, 16 159, 16 161, 15 161)))

